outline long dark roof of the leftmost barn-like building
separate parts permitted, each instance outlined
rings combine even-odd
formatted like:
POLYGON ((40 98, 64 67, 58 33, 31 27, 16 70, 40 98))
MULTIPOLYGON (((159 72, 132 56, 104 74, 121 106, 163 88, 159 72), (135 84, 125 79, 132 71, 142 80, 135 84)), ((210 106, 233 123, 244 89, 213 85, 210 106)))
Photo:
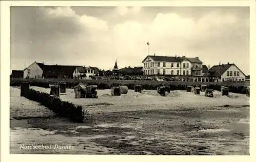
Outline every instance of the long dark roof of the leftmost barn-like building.
POLYGON ((45 65, 42 75, 45 77, 73 77, 73 72, 78 66, 45 65))

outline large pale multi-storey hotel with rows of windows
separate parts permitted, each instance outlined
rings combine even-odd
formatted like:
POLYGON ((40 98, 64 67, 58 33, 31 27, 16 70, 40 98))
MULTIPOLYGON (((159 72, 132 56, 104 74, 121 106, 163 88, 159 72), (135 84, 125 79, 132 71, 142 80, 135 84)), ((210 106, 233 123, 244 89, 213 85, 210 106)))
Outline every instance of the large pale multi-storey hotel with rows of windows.
POLYGON ((147 56, 143 61, 144 75, 201 76, 202 62, 198 57, 147 56))

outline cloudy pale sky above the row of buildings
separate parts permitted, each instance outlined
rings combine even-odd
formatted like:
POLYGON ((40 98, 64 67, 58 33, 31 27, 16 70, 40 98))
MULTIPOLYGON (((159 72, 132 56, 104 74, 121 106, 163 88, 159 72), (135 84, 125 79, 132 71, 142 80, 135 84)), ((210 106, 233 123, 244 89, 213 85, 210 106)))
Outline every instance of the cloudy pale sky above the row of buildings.
POLYGON ((249 7, 11 7, 10 70, 34 61, 112 69, 148 55, 234 63, 249 74, 249 7))

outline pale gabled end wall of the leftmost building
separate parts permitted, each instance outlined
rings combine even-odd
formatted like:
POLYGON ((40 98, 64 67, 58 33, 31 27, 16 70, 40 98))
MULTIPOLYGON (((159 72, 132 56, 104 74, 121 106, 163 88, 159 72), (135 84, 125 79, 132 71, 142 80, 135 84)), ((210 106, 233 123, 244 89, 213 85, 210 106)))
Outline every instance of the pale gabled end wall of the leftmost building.
POLYGON ((33 62, 29 67, 24 70, 24 78, 41 78, 44 69, 44 63, 33 62))

